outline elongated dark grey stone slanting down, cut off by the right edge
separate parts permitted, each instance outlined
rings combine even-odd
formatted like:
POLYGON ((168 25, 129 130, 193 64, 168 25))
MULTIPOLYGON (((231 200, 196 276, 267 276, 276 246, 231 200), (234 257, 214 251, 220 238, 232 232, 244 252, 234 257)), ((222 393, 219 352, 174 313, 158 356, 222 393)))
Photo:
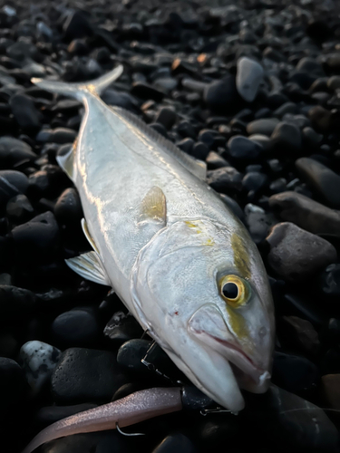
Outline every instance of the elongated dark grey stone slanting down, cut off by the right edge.
POLYGON ((317 160, 309 158, 297 159, 296 169, 327 206, 340 208, 340 176, 317 160))

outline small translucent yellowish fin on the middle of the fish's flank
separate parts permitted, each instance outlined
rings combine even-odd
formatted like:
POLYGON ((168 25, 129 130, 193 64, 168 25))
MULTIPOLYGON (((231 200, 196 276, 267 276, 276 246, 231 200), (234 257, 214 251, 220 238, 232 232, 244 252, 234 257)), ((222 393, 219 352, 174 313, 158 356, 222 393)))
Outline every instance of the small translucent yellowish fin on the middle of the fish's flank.
POLYGON ((167 201, 161 188, 154 186, 141 201, 141 221, 151 220, 165 226, 167 201))

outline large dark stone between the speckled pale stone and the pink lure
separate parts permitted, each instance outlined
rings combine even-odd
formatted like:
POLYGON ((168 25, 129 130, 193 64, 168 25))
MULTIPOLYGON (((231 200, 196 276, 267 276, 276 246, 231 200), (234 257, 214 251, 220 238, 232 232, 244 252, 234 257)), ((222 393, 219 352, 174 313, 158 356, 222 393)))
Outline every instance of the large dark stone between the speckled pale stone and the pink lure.
POLYGON ((69 348, 53 371, 51 390, 58 404, 109 402, 125 381, 113 352, 69 348))

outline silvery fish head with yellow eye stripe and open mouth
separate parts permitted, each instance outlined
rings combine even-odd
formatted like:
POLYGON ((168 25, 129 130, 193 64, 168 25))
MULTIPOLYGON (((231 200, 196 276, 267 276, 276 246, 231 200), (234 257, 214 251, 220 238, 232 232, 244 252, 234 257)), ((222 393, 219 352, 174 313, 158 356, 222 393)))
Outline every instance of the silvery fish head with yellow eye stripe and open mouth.
POLYGON ((210 219, 178 221, 144 247, 133 273, 144 325, 200 390, 233 412, 240 389, 270 383, 274 313, 248 232, 210 219))

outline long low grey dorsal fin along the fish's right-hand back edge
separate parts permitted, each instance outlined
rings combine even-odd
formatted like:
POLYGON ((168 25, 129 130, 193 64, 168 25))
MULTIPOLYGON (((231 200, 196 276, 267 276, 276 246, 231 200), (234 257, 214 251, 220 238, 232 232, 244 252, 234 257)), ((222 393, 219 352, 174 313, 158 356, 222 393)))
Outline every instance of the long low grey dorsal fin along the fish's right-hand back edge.
POLYGON ((131 113, 131 111, 125 111, 121 107, 112 107, 112 110, 118 113, 121 118, 128 120, 134 126, 137 126, 141 130, 142 134, 147 136, 150 140, 154 140, 158 145, 166 152, 175 158, 180 164, 189 170, 190 173, 195 175, 197 178, 205 180, 207 175, 207 165, 202 160, 195 159, 181 149, 177 148, 170 140, 160 135, 159 132, 153 130, 150 126, 145 124, 140 118, 131 113))

